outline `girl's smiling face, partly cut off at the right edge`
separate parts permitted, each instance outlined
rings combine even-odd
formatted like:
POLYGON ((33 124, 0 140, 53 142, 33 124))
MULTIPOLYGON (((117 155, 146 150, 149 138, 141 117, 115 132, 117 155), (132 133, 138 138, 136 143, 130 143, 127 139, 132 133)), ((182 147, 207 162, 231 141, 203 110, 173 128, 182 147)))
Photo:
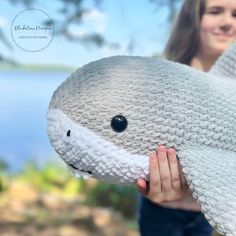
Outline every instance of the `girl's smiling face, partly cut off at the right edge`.
POLYGON ((219 56, 236 40, 236 0, 206 0, 200 24, 200 52, 219 56))

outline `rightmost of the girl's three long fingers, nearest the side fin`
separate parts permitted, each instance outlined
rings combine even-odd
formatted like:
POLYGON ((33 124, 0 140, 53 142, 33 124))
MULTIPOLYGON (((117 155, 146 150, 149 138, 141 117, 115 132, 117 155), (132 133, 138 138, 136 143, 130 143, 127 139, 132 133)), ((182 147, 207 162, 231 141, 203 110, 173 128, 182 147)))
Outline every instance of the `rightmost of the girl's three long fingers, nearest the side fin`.
POLYGON ((181 176, 179 171, 179 163, 176 157, 176 152, 173 148, 167 149, 169 168, 171 173, 171 183, 174 190, 181 189, 181 176))

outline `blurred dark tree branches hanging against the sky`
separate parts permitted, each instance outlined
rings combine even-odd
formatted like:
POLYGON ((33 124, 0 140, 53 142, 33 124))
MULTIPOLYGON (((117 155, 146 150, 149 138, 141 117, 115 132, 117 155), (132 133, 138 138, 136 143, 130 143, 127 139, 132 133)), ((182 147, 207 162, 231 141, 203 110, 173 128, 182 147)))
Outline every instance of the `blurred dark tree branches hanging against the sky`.
MULTIPOLYGON (((27 8, 35 7, 37 5, 36 0, 7 0, 12 6, 23 5, 27 8)), ((53 23, 55 35, 60 35, 67 39, 68 41, 77 41, 84 46, 95 45, 98 47, 108 46, 108 47, 118 47, 117 43, 108 42, 101 33, 96 31, 87 31, 83 34, 75 34, 71 27, 80 26, 84 23, 85 16, 92 13, 94 9, 99 9, 101 11, 100 5, 102 0, 93 0, 93 5, 88 8, 84 7, 85 0, 58 0, 59 4, 58 9, 56 9, 59 17, 55 18, 51 16, 50 21, 42 22, 44 25, 51 25, 53 23)), ((4 35, 3 30, 0 26, 0 41, 10 50, 12 50, 12 45, 4 35)), ((0 61, 9 62, 10 64, 15 64, 9 58, 6 58, 4 55, 0 54, 0 61)))

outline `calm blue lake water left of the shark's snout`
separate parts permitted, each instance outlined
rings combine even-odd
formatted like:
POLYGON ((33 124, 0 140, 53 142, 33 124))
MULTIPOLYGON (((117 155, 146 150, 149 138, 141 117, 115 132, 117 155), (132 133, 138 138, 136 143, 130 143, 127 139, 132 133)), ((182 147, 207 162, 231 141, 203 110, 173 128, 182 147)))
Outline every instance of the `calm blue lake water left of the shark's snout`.
MULTIPOLYGON (((20 170, 55 158, 46 113, 53 91, 70 72, 0 72, 0 159, 20 170)), ((55 161, 57 158, 55 158, 55 161)))

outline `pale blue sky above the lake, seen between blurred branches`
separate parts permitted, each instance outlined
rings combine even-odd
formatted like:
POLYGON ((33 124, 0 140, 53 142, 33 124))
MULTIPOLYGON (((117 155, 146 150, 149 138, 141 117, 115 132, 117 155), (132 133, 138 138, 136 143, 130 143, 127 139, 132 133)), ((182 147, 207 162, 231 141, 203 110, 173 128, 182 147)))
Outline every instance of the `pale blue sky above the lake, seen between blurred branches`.
MULTIPOLYGON (((36 2, 34 8, 43 10, 52 19, 60 19, 57 12, 60 1, 37 0, 36 2)), ((91 6, 93 6, 93 1, 84 1, 84 7, 91 6)), ((26 52, 15 44, 11 36, 12 22, 15 22, 14 19, 25 9, 26 7, 22 4, 13 5, 9 0, 1 0, 0 26, 12 46, 9 50, 0 43, 1 53, 24 64, 62 64, 79 67, 90 61, 112 55, 152 56, 162 52, 169 35, 169 26, 166 23, 167 8, 157 11, 156 6, 149 0, 103 0, 101 9, 93 8, 90 14, 83 16, 84 24, 74 25, 71 30, 78 35, 89 31, 101 33, 109 42, 118 43, 119 48, 98 48, 94 45, 85 47, 79 42, 72 43, 57 35, 43 50, 26 52), (135 47, 130 52, 127 47, 131 39, 135 42, 135 47)), ((27 22, 35 19, 37 20, 35 14, 26 17, 24 24, 27 25, 27 22)), ((27 44, 26 41, 24 42, 27 44)))

